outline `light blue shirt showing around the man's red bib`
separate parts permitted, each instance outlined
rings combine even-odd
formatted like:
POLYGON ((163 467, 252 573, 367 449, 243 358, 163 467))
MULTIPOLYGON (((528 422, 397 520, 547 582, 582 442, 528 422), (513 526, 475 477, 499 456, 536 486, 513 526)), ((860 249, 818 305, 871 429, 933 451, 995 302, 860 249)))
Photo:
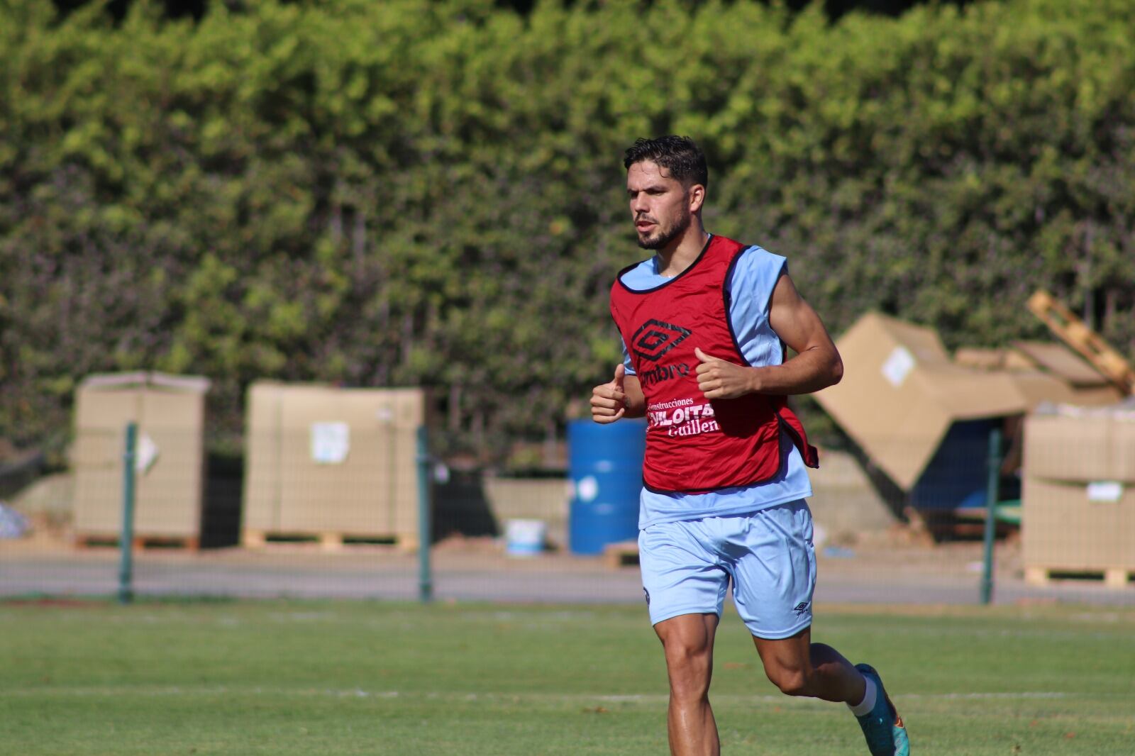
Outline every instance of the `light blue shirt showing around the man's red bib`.
MULTIPOLYGON (((768 305, 781 272, 787 271, 784 258, 750 246, 741 252, 732 279, 725 284, 732 293, 729 320, 749 364, 771 366, 783 361, 780 336, 768 325, 768 305)), ((666 280, 666 276, 658 275, 656 257, 644 260, 622 276, 622 282, 636 291, 654 288, 666 280)), ((623 364, 627 373, 633 376, 625 344, 623 364)), ((782 443, 781 448, 784 459, 780 472, 763 484, 722 488, 708 494, 659 494, 644 488, 639 498, 639 529, 656 522, 745 514, 812 496, 812 482, 800 452, 790 442, 782 443)))

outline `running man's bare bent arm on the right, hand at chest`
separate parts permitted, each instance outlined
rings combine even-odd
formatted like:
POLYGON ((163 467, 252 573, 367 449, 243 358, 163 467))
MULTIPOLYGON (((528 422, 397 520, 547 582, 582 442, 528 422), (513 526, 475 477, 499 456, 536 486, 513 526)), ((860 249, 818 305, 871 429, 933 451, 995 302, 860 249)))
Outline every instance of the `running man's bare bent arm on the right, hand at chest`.
POLYGON ((768 325, 796 356, 783 364, 749 368, 696 350, 698 387, 706 398, 737 398, 745 394, 810 394, 840 381, 843 361, 816 311, 781 274, 768 306, 768 325))

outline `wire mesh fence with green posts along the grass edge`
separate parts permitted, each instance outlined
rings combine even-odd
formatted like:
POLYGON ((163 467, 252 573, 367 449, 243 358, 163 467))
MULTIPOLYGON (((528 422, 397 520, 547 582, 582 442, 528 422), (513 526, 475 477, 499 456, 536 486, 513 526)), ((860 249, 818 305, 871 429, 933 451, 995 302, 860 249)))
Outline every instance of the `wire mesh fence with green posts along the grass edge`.
MULTIPOLYGON (((816 599, 977 603, 989 565, 998 603, 1135 605, 1132 428, 1129 417, 1102 413, 969 423, 948 434, 909 489, 855 450, 822 450, 809 499, 816 599), (991 462, 993 430, 1004 440, 991 462)), ((588 489, 594 481, 565 470, 520 477, 420 464, 414 443, 413 432, 352 430, 340 454, 334 437, 313 442, 306 429, 250 438, 237 457, 205 452, 200 434, 141 428, 132 590, 413 600, 428 586, 442 600, 641 600, 628 519, 599 534, 598 549, 581 548, 575 532, 587 503, 623 507, 633 521, 633 497, 605 501, 588 489)), ((84 431, 68 470, 9 487, 0 595, 119 590, 125 459, 125 427, 84 431)))

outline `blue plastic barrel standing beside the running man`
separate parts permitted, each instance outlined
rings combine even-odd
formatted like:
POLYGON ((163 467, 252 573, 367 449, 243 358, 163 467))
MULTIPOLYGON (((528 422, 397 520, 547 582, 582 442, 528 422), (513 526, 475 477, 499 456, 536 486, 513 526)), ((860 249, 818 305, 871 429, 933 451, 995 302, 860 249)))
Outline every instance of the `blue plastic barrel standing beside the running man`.
POLYGON ((573 554, 599 554, 607 544, 638 538, 646 420, 600 426, 568 423, 572 482, 569 543, 573 554))

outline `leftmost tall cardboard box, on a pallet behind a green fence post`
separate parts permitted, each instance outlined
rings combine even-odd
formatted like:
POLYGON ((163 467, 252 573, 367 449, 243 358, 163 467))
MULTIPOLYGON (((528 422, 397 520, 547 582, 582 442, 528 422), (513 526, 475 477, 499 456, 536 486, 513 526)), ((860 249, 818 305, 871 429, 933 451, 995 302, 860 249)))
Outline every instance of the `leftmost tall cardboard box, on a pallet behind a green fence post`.
POLYGON ((125 430, 136 422, 135 535, 200 538, 209 385, 157 372, 98 375, 79 384, 72 451, 77 536, 120 532, 125 430))

